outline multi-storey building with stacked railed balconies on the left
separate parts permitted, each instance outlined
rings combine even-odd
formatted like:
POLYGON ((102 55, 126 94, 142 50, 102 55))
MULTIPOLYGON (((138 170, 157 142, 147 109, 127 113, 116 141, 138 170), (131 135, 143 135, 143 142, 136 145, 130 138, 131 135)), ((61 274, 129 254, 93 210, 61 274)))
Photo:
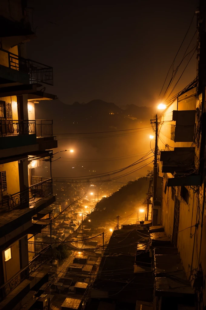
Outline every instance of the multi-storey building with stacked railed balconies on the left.
POLYGON ((46 207, 55 196, 51 175, 34 170, 39 160, 51 161, 57 141, 52 121, 35 119, 35 105, 56 96, 41 91, 53 84, 52 67, 26 56, 34 37, 26 1, 2 0, 0 25, 0 309, 17 310, 32 304, 48 278, 39 267, 51 245, 34 242, 34 235, 51 224, 46 207))

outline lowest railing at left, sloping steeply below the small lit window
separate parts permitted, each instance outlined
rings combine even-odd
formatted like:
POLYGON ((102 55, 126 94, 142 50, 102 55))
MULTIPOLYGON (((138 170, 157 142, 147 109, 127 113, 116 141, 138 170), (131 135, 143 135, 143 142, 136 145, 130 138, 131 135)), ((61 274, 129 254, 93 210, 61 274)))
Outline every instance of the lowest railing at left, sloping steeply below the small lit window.
POLYGON ((38 252, 38 254, 29 262, 27 266, 17 272, 11 279, 0 287, 0 298, 3 299, 6 297, 12 290, 15 289, 16 286, 28 278, 32 272, 37 270, 37 268, 51 258, 52 247, 51 245, 48 245, 43 250, 38 252))

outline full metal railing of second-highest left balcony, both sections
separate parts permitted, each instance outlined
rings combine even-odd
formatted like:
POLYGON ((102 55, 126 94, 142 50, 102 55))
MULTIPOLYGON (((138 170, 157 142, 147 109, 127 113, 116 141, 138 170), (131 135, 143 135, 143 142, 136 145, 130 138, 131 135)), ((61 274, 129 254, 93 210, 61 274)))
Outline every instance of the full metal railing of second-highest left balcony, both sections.
POLYGON ((0 120, 0 136, 36 134, 37 137, 53 135, 52 120, 0 120))

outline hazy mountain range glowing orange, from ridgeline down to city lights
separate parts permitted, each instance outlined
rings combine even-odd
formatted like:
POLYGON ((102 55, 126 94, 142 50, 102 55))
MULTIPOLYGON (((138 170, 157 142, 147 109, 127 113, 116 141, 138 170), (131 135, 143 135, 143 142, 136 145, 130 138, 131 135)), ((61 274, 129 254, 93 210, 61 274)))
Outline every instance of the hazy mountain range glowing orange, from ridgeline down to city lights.
MULTIPOLYGON (((60 100, 45 100, 35 104, 35 111, 36 119, 53 120, 53 133, 58 139, 58 150, 70 148, 75 150, 73 156, 68 153, 60 154, 61 159, 52 165, 54 176, 84 176, 113 171, 140 159, 144 156, 141 152, 150 151, 149 131, 151 130, 152 133, 150 118, 153 112, 151 108, 137 107, 133 104, 127 104, 121 108, 112 102, 98 99, 87 103, 74 102, 71 105, 64 104, 60 100), (147 128, 141 133, 136 131, 136 128, 145 127, 147 128), (130 132, 128 129, 133 130, 130 132), (114 132, 96 133, 102 131, 114 132), (91 134, 72 135, 85 132, 91 134), (133 156, 137 153, 140 155, 133 156), (128 155, 133 157, 119 159, 121 156, 128 155), (73 162, 66 162, 66 158, 73 157, 73 162), (91 161, 81 160, 85 158, 91 161), (102 158, 106 160, 92 161, 92 159, 102 158), (107 161, 107 158, 112 160, 107 161), (113 158, 117 159, 113 160, 113 158)), ((141 162, 135 168, 144 166, 147 162, 141 162)), ((132 168, 127 171, 130 172, 132 168)), ((137 172, 134 171, 121 181, 128 182, 145 176, 147 170, 151 170, 151 167, 146 166, 137 172)))

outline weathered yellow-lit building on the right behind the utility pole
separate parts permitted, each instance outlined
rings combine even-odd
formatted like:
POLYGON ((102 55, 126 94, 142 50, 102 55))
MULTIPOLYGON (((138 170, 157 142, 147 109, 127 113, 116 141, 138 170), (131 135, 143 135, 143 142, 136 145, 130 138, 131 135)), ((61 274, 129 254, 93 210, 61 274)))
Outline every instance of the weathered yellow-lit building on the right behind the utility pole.
MULTIPOLYGON (((187 279, 196 293, 198 309, 206 307, 205 218, 205 3, 198 15, 198 76, 165 102, 158 115, 158 190, 153 195, 153 223, 162 225, 177 247, 187 279), (155 219, 156 202, 160 202, 155 219)), ((160 308, 158 308, 160 309, 160 308)), ((161 308, 162 309, 162 308, 161 308)))

